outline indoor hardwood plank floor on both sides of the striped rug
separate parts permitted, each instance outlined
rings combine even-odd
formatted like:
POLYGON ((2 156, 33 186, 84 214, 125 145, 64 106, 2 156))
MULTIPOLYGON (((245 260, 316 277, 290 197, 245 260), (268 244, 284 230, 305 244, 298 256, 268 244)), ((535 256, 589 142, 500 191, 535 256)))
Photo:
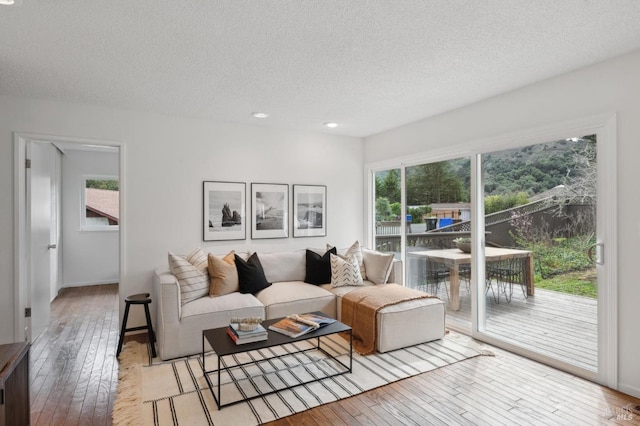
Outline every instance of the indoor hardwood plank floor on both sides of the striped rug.
MULTIPOLYGON (((118 363, 117 285, 63 291, 31 350, 33 425, 111 424, 118 363)), ((271 424, 640 425, 640 400, 491 348, 482 356, 271 424)))

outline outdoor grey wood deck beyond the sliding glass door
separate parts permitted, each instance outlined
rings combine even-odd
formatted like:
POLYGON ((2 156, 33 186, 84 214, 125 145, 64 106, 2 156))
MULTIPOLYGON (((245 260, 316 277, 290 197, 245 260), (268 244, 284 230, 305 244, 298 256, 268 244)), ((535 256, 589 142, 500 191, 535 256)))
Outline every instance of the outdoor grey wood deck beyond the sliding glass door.
MULTIPOLYGON (((493 286, 496 290, 496 286, 493 286)), ((454 329, 471 327, 471 294, 460 286, 460 310, 448 307, 444 287, 438 296, 447 304, 447 324, 454 329)), ((596 371, 598 365, 597 300, 537 288, 525 298, 519 285, 507 303, 504 294, 496 303, 487 296, 487 333, 540 354, 596 371)))

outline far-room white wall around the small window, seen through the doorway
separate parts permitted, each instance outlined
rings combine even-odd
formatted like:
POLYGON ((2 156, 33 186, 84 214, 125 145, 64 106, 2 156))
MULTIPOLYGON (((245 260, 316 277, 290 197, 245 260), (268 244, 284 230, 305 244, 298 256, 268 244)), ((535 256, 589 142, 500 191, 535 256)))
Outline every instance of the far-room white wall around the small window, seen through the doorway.
POLYGON ((83 178, 119 176, 119 153, 66 149, 62 156, 62 287, 117 283, 120 233, 82 231, 83 178))

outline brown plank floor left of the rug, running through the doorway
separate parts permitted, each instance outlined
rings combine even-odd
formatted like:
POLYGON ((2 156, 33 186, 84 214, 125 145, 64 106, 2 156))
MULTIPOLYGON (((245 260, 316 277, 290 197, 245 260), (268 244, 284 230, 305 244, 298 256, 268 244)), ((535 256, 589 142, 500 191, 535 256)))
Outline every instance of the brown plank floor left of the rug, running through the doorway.
POLYGON ((62 289, 31 346, 31 424, 109 425, 118 380, 118 285, 62 289))

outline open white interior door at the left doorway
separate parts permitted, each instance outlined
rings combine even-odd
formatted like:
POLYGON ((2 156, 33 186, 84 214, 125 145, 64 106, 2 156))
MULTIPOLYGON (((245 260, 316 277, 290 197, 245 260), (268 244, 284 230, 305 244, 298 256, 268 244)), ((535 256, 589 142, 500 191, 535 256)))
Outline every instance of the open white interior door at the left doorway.
MULTIPOLYGON (((27 212, 31 219, 31 280, 27 291, 27 307, 31 308, 30 341, 34 341, 48 326, 51 318, 52 277, 57 277, 57 219, 52 218, 52 181, 55 180, 55 149, 51 144, 27 143, 27 158, 31 168, 27 169, 27 212)), ((55 188, 55 183, 53 184, 55 188)), ((28 326, 28 322, 27 322, 28 326)))

